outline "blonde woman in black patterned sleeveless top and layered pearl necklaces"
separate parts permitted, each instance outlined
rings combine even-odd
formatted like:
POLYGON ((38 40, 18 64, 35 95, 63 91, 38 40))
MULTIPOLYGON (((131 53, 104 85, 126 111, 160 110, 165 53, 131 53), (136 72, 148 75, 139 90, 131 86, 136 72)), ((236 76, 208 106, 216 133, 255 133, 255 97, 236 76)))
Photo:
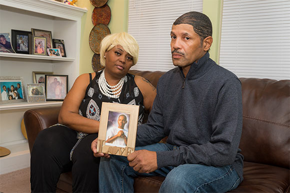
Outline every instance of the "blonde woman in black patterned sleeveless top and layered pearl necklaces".
POLYGON ((102 102, 139 105, 141 124, 156 96, 140 76, 128 74, 137 62, 138 44, 128 33, 106 36, 100 44, 103 71, 82 74, 65 97, 58 122, 41 131, 31 151, 31 192, 55 192, 62 172, 72 171, 73 192, 98 192, 99 159, 91 142, 97 137, 102 102))

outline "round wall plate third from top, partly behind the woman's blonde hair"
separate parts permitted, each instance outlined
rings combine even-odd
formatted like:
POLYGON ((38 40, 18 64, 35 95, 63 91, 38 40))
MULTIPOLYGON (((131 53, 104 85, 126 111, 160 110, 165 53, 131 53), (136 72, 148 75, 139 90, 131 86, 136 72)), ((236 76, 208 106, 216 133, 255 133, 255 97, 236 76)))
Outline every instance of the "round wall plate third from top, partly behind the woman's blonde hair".
POLYGON ((99 54, 99 45, 101 40, 106 36, 110 34, 109 28, 102 23, 96 24, 89 33, 88 43, 90 46, 90 49, 96 53, 99 54))

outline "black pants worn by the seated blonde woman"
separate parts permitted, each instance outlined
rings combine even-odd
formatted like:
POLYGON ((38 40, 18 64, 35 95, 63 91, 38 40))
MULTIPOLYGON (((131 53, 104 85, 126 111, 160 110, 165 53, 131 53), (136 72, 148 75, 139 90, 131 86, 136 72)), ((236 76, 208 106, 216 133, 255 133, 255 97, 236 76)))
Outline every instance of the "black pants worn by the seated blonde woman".
POLYGON ((73 151, 70 161, 70 150, 77 142, 74 130, 53 126, 39 132, 31 151, 31 192, 55 192, 60 174, 71 171, 73 192, 97 193, 99 158, 93 157, 90 149, 95 138, 97 134, 83 138, 73 151))

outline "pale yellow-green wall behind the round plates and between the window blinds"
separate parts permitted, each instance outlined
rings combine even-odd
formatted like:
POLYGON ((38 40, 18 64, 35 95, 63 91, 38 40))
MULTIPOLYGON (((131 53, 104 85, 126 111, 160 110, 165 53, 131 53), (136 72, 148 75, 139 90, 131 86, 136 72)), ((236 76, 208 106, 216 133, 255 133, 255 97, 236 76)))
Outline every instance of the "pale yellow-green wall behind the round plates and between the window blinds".
MULTIPOLYGON (((128 1, 129 0, 108 0, 107 4, 111 9, 111 19, 108 27, 111 33, 117 33, 128 30, 128 1)), ((203 0, 203 13, 205 13, 212 22, 213 43, 210 48, 210 58, 216 63, 219 60, 219 45, 220 45, 220 25, 221 25, 221 11, 223 0, 203 0)), ((80 64, 79 74, 92 72, 91 58, 93 52, 88 44, 88 37, 90 30, 93 27, 91 21, 91 13, 94 6, 89 0, 78 0, 76 5, 79 7, 86 7, 87 12, 83 15, 81 20, 81 43, 80 43, 80 64)))

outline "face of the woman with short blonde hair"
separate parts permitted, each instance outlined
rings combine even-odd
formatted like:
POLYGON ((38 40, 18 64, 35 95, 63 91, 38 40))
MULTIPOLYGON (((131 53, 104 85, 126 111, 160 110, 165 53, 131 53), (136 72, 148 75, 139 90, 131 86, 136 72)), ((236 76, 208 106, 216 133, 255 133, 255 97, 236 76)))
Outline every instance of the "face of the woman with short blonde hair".
POLYGON ((121 45, 116 45, 105 55, 105 71, 109 72, 112 76, 122 78, 126 75, 133 65, 133 57, 128 54, 121 45))

